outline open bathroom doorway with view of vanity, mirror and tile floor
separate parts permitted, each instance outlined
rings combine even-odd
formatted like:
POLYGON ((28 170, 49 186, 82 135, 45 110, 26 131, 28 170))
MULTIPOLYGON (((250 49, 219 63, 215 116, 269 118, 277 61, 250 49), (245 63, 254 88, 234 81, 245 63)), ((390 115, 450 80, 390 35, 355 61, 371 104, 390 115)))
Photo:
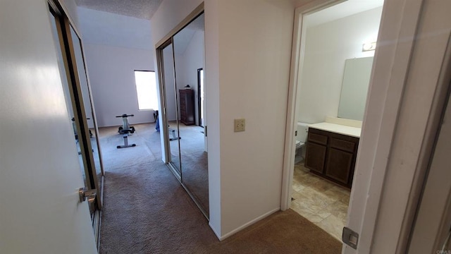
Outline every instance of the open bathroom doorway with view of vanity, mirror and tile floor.
POLYGON ((377 40, 382 5, 335 2, 304 14, 299 26, 290 208, 338 240, 347 222, 373 63, 374 49, 364 44, 377 40))

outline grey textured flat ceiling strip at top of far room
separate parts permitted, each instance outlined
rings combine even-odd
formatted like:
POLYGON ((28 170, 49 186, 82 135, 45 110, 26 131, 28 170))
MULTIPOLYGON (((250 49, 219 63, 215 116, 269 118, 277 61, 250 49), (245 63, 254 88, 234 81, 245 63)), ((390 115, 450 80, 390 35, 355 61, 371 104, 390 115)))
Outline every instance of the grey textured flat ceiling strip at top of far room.
POLYGON ((163 0, 75 0, 78 6, 150 20, 163 0))

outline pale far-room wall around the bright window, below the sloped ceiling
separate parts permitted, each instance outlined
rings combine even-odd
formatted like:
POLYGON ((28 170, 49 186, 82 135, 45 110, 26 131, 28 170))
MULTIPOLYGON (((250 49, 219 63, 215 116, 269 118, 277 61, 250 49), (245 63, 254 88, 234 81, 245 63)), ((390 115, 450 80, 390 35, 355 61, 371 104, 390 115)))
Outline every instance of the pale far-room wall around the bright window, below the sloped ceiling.
POLYGON ((85 44, 85 54, 99 127, 120 126, 121 114, 135 114, 130 123, 154 121, 152 110, 138 109, 134 72, 154 71, 151 52, 85 44))

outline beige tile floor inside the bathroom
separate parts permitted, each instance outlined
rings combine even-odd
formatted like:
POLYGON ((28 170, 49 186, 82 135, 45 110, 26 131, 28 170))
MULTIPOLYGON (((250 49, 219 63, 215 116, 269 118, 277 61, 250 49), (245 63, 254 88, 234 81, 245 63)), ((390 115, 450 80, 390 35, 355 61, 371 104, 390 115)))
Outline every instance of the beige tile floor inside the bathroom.
POLYGON ((295 164, 291 209, 341 241, 346 224, 350 191, 309 173, 295 164))

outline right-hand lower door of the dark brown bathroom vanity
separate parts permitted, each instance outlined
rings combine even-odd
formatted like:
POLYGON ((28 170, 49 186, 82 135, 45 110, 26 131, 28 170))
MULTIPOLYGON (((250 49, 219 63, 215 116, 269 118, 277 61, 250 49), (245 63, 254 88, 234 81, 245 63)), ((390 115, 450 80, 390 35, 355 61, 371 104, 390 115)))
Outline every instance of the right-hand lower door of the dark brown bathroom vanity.
POLYGON ((352 169, 353 157, 354 155, 352 152, 345 152, 330 147, 327 159, 326 176, 347 186, 352 169))

